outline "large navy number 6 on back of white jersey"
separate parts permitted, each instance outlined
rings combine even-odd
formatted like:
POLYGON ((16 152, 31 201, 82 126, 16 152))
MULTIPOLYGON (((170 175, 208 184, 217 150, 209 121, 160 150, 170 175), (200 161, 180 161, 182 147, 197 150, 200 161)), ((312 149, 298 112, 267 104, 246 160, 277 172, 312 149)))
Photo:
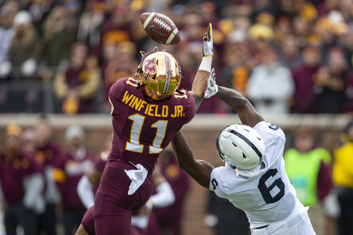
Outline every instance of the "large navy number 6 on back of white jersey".
POLYGON ((269 187, 266 186, 265 182, 270 178, 274 177, 277 174, 278 170, 275 169, 269 169, 259 180, 259 184, 257 185, 257 188, 261 192, 261 196, 265 200, 265 203, 271 204, 278 202, 281 200, 281 198, 285 195, 285 184, 283 183, 281 178, 276 179, 273 184, 271 184, 269 187), (280 189, 280 192, 277 193, 275 197, 271 196, 270 191, 277 186, 280 189))

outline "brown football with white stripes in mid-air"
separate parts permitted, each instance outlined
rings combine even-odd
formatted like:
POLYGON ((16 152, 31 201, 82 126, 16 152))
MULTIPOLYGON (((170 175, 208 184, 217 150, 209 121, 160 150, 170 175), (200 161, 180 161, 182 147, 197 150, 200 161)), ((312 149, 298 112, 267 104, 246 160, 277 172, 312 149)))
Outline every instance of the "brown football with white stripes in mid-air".
POLYGON ((169 17, 156 12, 141 14, 141 23, 148 37, 161 44, 177 44, 180 35, 177 26, 169 17))

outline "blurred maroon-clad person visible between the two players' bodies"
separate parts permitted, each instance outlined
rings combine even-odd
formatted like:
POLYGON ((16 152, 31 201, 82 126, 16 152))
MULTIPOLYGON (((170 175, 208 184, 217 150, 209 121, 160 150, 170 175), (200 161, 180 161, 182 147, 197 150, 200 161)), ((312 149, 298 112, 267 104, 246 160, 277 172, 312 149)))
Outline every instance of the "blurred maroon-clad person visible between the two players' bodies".
POLYGON ((162 175, 172 186, 175 202, 164 208, 155 208, 155 216, 163 234, 179 235, 184 198, 189 188, 189 176, 179 168, 172 150, 164 150, 158 162, 162 175))

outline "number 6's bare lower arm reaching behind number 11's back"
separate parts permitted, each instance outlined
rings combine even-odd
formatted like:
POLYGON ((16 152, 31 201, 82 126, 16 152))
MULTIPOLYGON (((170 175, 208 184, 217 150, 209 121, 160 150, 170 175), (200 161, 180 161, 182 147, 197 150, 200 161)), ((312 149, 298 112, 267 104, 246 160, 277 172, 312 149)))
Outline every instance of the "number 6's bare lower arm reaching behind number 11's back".
POLYGON ((180 131, 174 136, 172 147, 180 168, 189 174, 198 184, 209 188, 211 172, 214 166, 203 160, 194 159, 189 143, 187 143, 180 131))

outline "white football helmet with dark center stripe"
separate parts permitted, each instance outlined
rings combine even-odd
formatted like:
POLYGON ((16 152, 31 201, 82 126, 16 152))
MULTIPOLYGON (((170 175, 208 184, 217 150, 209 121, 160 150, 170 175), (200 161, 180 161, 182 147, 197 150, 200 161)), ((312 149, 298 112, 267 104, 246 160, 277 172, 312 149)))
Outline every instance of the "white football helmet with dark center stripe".
POLYGON ((260 165, 265 153, 261 136, 244 124, 223 128, 216 138, 216 146, 222 161, 240 170, 250 170, 260 165))

